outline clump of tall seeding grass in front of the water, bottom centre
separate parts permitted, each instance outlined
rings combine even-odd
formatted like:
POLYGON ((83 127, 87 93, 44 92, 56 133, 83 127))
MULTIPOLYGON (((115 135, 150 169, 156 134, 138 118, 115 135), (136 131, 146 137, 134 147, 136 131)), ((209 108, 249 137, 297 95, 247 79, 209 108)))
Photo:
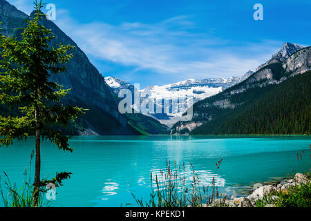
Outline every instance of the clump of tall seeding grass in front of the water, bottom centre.
MULTIPOLYGON (((219 166, 221 161, 218 162, 219 166)), ((133 194, 132 194, 133 195, 133 194)), ((133 195, 139 207, 201 207, 209 205, 214 200, 220 199, 215 180, 211 187, 201 186, 200 178, 194 171, 194 166, 190 164, 186 169, 185 164, 171 165, 167 161, 165 171, 160 170, 160 174, 151 173, 151 193, 150 200, 144 202, 133 195), (190 171, 189 171, 190 170, 190 171), (186 179, 186 173, 192 174, 192 179, 186 179)))

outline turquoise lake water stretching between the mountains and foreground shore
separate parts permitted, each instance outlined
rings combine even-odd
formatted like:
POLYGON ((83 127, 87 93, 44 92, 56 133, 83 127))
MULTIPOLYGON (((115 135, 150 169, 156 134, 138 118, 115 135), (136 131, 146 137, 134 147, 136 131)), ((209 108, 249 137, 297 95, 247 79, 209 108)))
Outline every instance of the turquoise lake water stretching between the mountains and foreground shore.
MULTIPOLYGON (((30 171, 34 144, 30 138, 0 148, 2 186, 3 171, 11 182, 22 184, 26 167, 30 171)), ((73 153, 59 151, 49 142, 42 147, 43 177, 53 177, 57 171, 73 173, 57 189, 52 206, 136 206, 131 193, 148 200, 150 173, 165 169, 167 159, 193 164, 202 184, 211 184, 215 177, 220 192, 228 195, 243 195, 256 182, 281 180, 310 169, 310 136, 103 136, 73 137, 70 144, 73 153), (302 161, 296 153, 303 156, 302 161)))

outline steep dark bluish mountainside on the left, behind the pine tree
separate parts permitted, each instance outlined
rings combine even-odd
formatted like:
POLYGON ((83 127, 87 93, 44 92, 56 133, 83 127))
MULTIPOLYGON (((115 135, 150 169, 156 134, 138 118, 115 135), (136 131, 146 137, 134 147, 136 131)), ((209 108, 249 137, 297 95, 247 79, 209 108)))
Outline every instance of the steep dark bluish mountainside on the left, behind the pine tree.
MULTIPOLYGON (((34 12, 28 17, 7 1, 0 0, 0 22, 3 22, 1 34, 7 37, 17 36, 17 28, 26 26, 24 19, 30 19, 33 15, 34 12)), ((57 44, 75 46, 75 49, 70 51, 73 53, 73 59, 68 64, 66 72, 53 76, 52 80, 62 84, 64 88, 72 89, 68 95, 69 103, 96 110, 96 116, 91 112, 86 114, 84 126, 98 134, 136 134, 126 118, 118 112, 117 104, 104 77, 91 64, 79 46, 52 21, 43 19, 41 22, 55 34, 53 46, 57 44), (98 123, 98 118, 102 120, 102 124, 98 123), (105 119, 109 119, 110 123, 104 124, 105 119)))

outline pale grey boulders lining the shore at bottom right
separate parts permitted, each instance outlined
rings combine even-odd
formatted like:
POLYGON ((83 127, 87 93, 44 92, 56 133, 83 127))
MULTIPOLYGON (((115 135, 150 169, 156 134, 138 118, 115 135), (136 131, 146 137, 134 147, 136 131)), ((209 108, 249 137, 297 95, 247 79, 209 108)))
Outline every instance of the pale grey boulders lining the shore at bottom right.
MULTIPOLYGON (((296 173, 293 179, 283 180, 279 183, 274 183, 270 185, 258 185, 256 189, 252 191, 252 194, 247 197, 237 198, 236 195, 232 195, 230 200, 226 198, 216 199, 213 203, 207 205, 207 207, 254 207, 258 200, 263 200, 267 195, 269 195, 271 202, 275 202, 279 199, 274 193, 288 193, 288 189, 292 186, 307 184, 310 179, 302 173, 296 173)), ((265 207, 276 207, 275 204, 267 204, 265 207)))

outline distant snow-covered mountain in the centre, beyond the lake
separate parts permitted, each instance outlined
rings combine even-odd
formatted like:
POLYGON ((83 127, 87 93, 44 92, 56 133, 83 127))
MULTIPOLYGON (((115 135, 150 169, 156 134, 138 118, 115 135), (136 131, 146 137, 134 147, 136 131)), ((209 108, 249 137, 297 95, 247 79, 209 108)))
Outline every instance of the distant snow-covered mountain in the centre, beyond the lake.
MULTIPOLYGON (((249 71, 245 76, 249 76, 250 73, 254 72, 249 71)), ((106 77, 105 79, 106 84, 108 84, 116 94, 118 94, 121 89, 129 89, 132 93, 134 92, 134 86, 126 81, 122 81, 116 77, 106 77)), ((216 95, 239 82, 241 82, 241 78, 230 77, 228 79, 188 79, 164 86, 148 86, 147 88, 139 90, 140 101, 143 102, 144 99, 148 97, 155 101, 153 104, 155 104, 156 107, 157 105, 158 108, 159 105, 162 106, 160 107, 162 113, 157 113, 155 111, 155 113, 143 114, 155 117, 162 124, 173 126, 173 124, 178 122, 182 114, 187 111, 187 108, 189 108, 188 104, 191 104, 188 103, 189 99, 191 99, 191 102, 194 104, 202 99, 216 95), (174 108, 173 100, 178 100, 178 105, 174 106, 174 108), (166 113, 164 113, 165 111, 163 108, 164 102, 168 102, 167 104, 169 104, 169 111, 166 111, 166 113)))

